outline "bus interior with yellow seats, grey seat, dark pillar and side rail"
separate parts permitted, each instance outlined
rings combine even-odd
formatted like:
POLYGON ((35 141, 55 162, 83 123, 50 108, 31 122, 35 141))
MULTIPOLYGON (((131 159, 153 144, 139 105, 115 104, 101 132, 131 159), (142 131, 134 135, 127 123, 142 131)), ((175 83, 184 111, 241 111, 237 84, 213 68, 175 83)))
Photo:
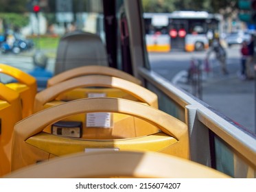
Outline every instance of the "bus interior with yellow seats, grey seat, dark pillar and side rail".
MULTIPOLYGON (((75 32, 49 52, 53 77, 45 87, 35 88, 38 79, 21 62, 12 65, 16 55, 0 58, 0 72, 16 79, 0 84, 1 177, 256 178, 256 135, 150 68, 141 1, 79 5, 75 32), (74 163, 80 169, 67 166, 74 163)), ((163 22, 161 34, 193 36, 191 25, 205 35, 197 22, 163 22)))

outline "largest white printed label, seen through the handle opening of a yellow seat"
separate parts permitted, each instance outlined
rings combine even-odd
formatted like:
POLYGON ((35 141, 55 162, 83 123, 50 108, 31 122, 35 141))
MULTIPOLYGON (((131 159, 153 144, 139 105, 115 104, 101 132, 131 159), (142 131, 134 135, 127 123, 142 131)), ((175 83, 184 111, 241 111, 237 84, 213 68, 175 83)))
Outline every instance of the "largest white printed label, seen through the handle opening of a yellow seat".
POLYGON ((110 112, 90 112, 86 114, 87 128, 111 128, 110 112))

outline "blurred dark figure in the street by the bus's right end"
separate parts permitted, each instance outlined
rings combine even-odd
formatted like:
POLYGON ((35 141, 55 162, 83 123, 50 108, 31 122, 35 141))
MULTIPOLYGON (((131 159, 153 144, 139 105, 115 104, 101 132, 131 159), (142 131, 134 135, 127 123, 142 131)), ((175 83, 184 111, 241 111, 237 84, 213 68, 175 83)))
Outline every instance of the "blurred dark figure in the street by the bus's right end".
POLYGON ((226 50, 224 49, 224 47, 222 47, 218 34, 215 35, 213 43, 211 44, 211 47, 207 52, 207 60, 209 59, 209 56, 212 52, 215 52, 216 59, 220 62, 222 73, 224 75, 229 74, 229 72, 226 70, 226 50))

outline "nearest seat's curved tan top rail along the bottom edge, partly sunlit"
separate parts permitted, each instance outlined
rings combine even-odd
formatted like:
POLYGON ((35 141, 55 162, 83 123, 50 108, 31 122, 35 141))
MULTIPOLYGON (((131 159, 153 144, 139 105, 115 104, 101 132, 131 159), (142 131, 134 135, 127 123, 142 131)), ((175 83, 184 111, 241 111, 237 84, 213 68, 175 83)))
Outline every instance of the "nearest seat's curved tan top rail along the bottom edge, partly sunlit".
MULTIPOLYGON (((93 152, 55 158, 4 178, 230 178, 183 158, 153 152, 93 152), (71 166, 75 165, 75 166, 71 166)), ((177 186, 178 187, 178 186, 177 186)))

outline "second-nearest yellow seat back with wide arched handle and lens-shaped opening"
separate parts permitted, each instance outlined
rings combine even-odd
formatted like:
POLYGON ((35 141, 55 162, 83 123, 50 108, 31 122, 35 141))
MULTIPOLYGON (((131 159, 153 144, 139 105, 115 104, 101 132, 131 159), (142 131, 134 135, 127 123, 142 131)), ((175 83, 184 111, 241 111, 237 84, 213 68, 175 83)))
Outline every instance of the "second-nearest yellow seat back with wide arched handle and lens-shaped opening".
MULTIPOLYGON (((145 128, 144 128, 145 129, 145 128)), ((182 158, 189 156, 187 125, 161 110, 119 98, 86 98, 36 112, 14 127, 12 171, 27 165, 98 149, 152 151, 182 158), (43 132, 45 127, 83 112, 119 112, 155 125, 161 132, 126 139, 73 139, 43 132)))

